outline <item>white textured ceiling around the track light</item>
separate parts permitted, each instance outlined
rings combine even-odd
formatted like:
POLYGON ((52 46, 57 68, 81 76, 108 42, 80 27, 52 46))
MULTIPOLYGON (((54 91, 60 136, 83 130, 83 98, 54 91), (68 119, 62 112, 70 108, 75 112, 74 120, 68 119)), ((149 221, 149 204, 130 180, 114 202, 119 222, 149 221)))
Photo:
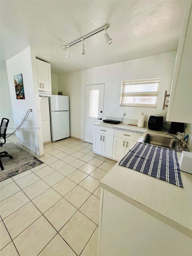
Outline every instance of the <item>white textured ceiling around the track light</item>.
POLYGON ((177 50, 186 1, 0 1, 1 68, 27 46, 60 74, 177 50), (110 24, 104 31, 70 47, 63 44, 110 24))

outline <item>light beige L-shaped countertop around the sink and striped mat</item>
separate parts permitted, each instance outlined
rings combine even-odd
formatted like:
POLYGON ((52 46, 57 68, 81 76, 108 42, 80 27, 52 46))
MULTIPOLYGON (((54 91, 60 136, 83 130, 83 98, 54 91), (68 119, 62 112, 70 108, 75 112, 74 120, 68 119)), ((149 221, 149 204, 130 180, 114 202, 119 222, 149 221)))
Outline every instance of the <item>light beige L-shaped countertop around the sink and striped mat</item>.
MULTIPOLYGON (((112 128, 104 122, 95 125, 112 128)), ((146 128, 146 127, 144 127, 146 128)), ((164 131, 146 134, 166 136, 164 131)), ((178 161, 181 153, 177 152, 178 161)), ((100 181, 100 186, 137 206, 164 223, 192 237, 192 174, 180 171, 183 188, 136 170, 119 162, 100 181)))

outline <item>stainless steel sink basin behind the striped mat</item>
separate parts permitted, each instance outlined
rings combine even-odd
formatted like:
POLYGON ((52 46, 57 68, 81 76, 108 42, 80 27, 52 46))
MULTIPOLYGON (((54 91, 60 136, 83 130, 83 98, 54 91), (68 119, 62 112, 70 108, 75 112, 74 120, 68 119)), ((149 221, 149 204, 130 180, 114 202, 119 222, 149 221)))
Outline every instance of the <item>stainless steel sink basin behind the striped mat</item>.
MULTIPOLYGON (((155 146, 161 146, 168 149, 175 149, 178 152, 182 152, 182 150, 179 147, 179 142, 174 138, 166 136, 146 134, 144 137, 140 138, 139 142, 144 142, 155 146)), ((187 148, 185 150, 188 151, 187 148)))

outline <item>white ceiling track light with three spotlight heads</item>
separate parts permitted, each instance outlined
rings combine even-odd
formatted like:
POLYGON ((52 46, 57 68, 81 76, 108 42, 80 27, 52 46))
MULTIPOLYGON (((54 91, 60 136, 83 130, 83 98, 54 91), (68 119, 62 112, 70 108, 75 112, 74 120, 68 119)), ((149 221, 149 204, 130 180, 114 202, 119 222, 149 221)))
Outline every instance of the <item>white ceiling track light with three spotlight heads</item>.
POLYGON ((79 43, 80 41, 82 41, 82 45, 81 45, 81 54, 85 54, 85 46, 84 46, 84 39, 85 38, 88 38, 92 35, 95 35, 97 34, 98 32, 101 32, 102 30, 105 30, 105 38, 107 40, 107 45, 110 45, 113 40, 109 37, 109 35, 107 34, 107 28, 109 28, 110 25, 106 25, 98 30, 95 30, 94 32, 88 34, 88 35, 85 35, 84 37, 82 38, 79 38, 78 40, 74 41, 73 43, 71 44, 68 44, 68 45, 62 45, 61 47, 63 48, 63 50, 67 50, 67 56, 66 56, 66 59, 70 59, 70 50, 69 50, 69 47, 72 46, 73 44, 76 44, 76 43, 79 43))

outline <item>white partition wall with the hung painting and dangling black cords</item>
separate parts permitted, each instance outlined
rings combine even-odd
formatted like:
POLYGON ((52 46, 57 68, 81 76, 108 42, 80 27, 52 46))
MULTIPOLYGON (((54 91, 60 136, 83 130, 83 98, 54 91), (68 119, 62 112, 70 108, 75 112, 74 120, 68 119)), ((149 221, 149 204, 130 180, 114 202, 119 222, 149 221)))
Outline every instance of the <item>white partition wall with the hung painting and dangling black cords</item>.
POLYGON ((44 154, 43 138, 41 131, 41 111, 38 93, 38 77, 36 70, 35 51, 27 47, 6 61, 9 81, 10 98, 12 102, 15 126, 19 126, 27 111, 32 109, 28 119, 22 127, 32 129, 19 129, 17 140, 22 146, 35 155, 44 154), (13 76, 22 73, 25 100, 17 100, 13 76), (39 129, 33 129, 39 127, 39 129))

